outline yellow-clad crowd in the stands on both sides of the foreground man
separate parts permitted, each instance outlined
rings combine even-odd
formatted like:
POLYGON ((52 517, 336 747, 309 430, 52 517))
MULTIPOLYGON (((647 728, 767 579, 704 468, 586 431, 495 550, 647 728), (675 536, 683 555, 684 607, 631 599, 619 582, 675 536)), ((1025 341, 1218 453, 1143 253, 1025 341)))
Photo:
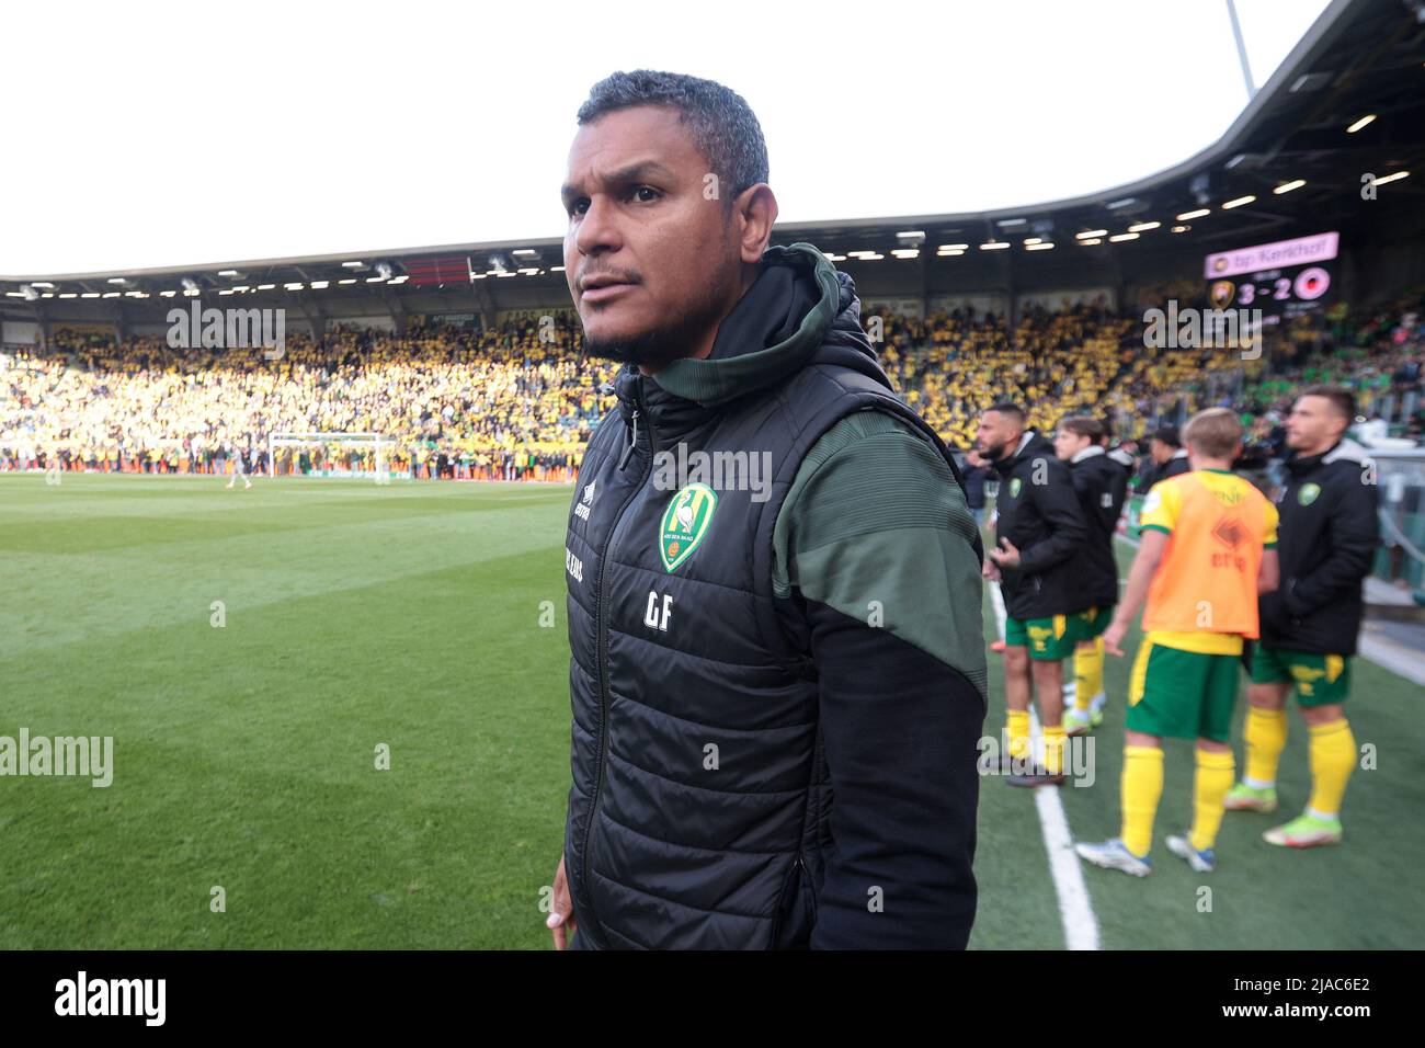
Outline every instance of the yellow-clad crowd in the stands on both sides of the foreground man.
MULTIPOLYGON (((1351 318, 1318 312, 1278 329, 1258 358, 1144 345, 1141 314, 1100 305, 1032 307, 1015 321, 969 307, 925 319, 871 311, 866 327, 896 391, 952 448, 979 413, 1015 399, 1050 431, 1070 413, 1106 418, 1119 439, 1200 408, 1240 409, 1270 442, 1292 391, 1342 382, 1419 408, 1425 297, 1351 318), (875 318, 875 321, 872 319, 875 318)), ((571 479, 589 433, 613 406, 614 364, 584 359, 559 317, 490 331, 338 328, 254 349, 172 349, 161 338, 56 329, 48 345, 0 346, 0 469, 54 465, 130 472, 266 472, 272 433, 380 433, 383 465, 418 478, 571 479)), ((1146 439, 1144 439, 1146 443, 1146 439)), ((279 448, 279 473, 370 469, 370 446, 279 448)))

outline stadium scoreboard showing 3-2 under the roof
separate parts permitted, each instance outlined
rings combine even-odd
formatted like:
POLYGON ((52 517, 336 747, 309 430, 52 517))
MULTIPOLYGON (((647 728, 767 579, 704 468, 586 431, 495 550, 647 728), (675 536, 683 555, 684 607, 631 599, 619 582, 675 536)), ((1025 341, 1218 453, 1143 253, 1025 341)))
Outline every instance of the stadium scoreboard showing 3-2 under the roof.
POLYGON ((1320 232, 1208 255, 1207 301, 1214 309, 1261 309, 1264 324, 1311 312, 1331 289, 1340 240, 1320 232))

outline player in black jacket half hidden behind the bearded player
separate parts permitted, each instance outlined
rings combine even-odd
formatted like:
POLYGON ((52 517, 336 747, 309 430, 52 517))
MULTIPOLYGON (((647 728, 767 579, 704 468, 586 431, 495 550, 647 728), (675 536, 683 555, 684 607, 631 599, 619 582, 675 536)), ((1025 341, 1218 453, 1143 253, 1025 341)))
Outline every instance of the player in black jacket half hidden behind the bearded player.
MULTIPOLYGON (((1054 432, 1054 453, 1069 463, 1079 508, 1089 529, 1083 570, 1086 595, 1093 603, 1079 615, 1079 644, 1073 653, 1073 706, 1064 713, 1064 733, 1083 734, 1103 723, 1107 694, 1103 690, 1103 632, 1113 622, 1119 603, 1119 562, 1113 556, 1113 536, 1119 530, 1129 473, 1109 458, 1103 443, 1107 431, 1090 415, 1073 415, 1054 432)), ((1064 689, 1066 693, 1070 689, 1064 689)))

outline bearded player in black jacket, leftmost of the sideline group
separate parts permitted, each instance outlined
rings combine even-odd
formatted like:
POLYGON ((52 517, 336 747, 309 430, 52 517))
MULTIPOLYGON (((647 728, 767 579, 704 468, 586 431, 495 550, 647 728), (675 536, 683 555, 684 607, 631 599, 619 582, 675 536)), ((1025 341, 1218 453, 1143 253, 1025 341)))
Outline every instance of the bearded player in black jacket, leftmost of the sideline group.
POLYGON ((1025 429, 1025 411, 1002 401, 980 416, 978 446, 999 473, 995 498, 996 548, 985 562, 985 577, 1005 595, 1005 704, 1009 751, 1029 750, 1030 680, 1039 694, 1045 736, 1043 761, 1010 774, 1010 786, 1063 783, 1063 660, 1077 640, 1074 616, 1084 610, 1083 575, 1089 530, 1074 495, 1069 468, 1053 445, 1025 429))

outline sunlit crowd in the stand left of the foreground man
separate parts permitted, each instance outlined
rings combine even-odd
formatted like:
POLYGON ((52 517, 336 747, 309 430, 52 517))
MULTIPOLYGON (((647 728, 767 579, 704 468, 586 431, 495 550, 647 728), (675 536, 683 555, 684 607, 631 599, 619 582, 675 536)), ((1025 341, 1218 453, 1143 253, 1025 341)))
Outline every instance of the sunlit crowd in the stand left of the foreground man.
MULTIPOLYGON (((171 349, 57 331, 43 351, 10 348, 0 468, 266 472, 274 433, 379 433, 385 463, 420 478, 569 479, 607 398, 601 361, 580 361, 559 321, 499 331, 336 329, 262 348, 171 349), (93 465, 91 465, 93 463, 93 465)), ((0 366, 4 361, 0 359, 0 366)), ((281 448, 278 472, 370 469, 375 448, 281 448)))

